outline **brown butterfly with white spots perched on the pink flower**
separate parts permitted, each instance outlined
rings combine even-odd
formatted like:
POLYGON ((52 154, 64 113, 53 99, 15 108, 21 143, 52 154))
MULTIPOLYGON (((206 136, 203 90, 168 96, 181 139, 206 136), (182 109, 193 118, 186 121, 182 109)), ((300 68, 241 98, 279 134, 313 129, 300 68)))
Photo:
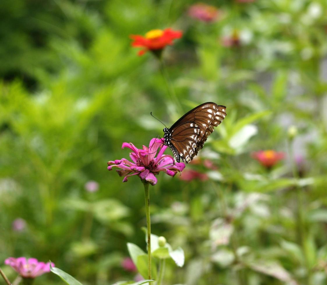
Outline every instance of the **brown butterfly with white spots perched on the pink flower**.
POLYGON ((187 164, 226 116, 226 107, 213 102, 202 103, 187 112, 169 129, 164 128, 164 144, 168 146, 177 162, 187 164))

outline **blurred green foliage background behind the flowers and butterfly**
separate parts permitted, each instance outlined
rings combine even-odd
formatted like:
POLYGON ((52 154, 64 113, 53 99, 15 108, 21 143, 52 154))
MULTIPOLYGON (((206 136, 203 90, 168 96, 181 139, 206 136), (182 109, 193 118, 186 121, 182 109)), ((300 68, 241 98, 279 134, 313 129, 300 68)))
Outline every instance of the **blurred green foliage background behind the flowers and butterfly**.
POLYGON ((191 19, 186 0, 1 1, 0 264, 35 257, 83 284, 133 279, 121 261, 127 242, 146 249, 143 186, 107 161, 162 135, 150 111, 171 125, 214 101, 228 116, 201 153, 217 169, 187 165, 210 179, 161 173, 150 188, 152 232, 186 254, 164 284, 326 284, 327 3, 207 3, 222 11, 215 23, 191 19), (130 46, 166 27, 183 31, 163 54, 178 105, 156 58, 130 46), (241 43, 225 47, 234 29, 241 43), (287 157, 266 171, 251 158, 265 149, 287 157))

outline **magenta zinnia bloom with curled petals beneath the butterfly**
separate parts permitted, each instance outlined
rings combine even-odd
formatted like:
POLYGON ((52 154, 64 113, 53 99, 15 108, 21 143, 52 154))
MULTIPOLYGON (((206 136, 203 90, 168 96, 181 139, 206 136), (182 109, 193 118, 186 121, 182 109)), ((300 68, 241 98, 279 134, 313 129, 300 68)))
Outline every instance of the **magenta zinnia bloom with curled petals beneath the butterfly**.
POLYGON ((163 155, 167 148, 167 146, 163 145, 163 139, 153 138, 149 143, 149 147, 143 146, 143 149, 138 149, 132 143, 126 142, 123 143, 122 149, 125 147, 132 150, 129 153, 129 157, 133 162, 126 158, 108 161, 108 170, 112 170, 112 167, 120 168, 116 171, 119 176, 125 176, 123 182, 126 182, 129 176, 138 175, 142 181, 155 185, 157 183, 155 175, 159 174, 160 171, 174 176, 185 168, 184 163, 175 163, 171 155, 163 155), (159 150, 161 146, 162 148, 159 150))

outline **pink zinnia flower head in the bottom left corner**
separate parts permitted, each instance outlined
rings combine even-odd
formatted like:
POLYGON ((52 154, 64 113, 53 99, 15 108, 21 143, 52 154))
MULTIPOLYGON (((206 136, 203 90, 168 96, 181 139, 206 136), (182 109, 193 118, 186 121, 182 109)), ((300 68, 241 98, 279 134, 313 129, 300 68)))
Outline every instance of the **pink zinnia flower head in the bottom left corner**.
MULTIPOLYGON (((23 278, 35 278, 50 272, 50 263, 39 262, 36 258, 9 257, 5 260, 5 264, 10 265, 23 278)), ((51 263, 51 266, 55 266, 55 264, 51 263)))

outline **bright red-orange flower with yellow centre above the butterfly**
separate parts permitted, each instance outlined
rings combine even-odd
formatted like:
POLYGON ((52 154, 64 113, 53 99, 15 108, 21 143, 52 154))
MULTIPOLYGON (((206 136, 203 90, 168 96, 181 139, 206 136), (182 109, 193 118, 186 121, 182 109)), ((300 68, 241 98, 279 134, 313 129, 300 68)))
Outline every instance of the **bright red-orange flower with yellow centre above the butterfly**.
POLYGON ((133 47, 143 47, 138 52, 138 55, 143 55, 147 51, 152 51, 159 56, 166 45, 173 44, 173 40, 180 39, 182 31, 174 31, 171 28, 164 30, 151 30, 145 34, 145 37, 140 35, 131 35, 133 47))

